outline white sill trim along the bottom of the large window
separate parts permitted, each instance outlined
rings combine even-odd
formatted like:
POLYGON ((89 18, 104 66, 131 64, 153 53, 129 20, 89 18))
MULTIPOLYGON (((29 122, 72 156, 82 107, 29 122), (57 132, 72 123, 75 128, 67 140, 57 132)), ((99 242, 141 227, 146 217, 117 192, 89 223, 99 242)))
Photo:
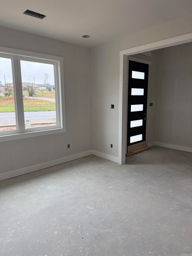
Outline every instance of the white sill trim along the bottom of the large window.
POLYGON ((67 131, 66 128, 57 128, 57 129, 50 129, 50 130, 44 130, 44 131, 30 131, 25 133, 8 134, 8 135, 0 136, 0 142, 7 141, 7 140, 17 140, 17 139, 24 139, 24 138, 30 138, 30 137, 37 137, 37 136, 43 136, 48 134, 55 134, 55 133, 61 133, 66 131, 67 131))

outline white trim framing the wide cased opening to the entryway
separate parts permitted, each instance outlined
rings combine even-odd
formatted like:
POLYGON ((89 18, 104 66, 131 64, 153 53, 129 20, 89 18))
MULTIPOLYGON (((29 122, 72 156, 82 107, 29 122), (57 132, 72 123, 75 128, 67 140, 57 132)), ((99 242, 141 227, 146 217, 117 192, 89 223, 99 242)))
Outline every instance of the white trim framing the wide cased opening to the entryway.
POLYGON ((119 52, 119 164, 125 164, 127 151, 128 56, 189 42, 192 42, 192 33, 143 44, 119 52))

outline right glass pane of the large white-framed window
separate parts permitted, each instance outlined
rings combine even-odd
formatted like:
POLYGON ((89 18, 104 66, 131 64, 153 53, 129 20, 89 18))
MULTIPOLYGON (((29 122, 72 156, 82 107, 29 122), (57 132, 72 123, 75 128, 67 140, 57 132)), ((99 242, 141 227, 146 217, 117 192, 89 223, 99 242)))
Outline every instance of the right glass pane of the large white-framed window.
POLYGON ((25 128, 57 125, 54 65, 20 62, 25 128))

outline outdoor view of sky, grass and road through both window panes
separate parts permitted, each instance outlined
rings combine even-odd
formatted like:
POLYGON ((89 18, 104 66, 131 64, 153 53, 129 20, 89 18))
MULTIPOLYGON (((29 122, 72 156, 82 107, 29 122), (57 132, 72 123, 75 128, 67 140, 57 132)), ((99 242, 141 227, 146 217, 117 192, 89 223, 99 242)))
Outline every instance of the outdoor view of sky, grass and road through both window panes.
MULTIPOLYGON (((54 64, 20 60, 25 129, 58 125, 54 64)), ((0 58, 0 132, 17 130, 12 59, 0 58)), ((20 85, 21 86, 21 85, 20 85)))

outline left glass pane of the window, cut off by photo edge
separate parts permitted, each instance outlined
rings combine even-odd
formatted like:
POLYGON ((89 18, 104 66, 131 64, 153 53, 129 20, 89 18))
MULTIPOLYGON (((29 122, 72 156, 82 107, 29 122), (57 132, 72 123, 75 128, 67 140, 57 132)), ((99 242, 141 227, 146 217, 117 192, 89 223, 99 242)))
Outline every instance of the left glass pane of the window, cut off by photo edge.
POLYGON ((0 57, 0 131, 16 130, 12 63, 0 57))

